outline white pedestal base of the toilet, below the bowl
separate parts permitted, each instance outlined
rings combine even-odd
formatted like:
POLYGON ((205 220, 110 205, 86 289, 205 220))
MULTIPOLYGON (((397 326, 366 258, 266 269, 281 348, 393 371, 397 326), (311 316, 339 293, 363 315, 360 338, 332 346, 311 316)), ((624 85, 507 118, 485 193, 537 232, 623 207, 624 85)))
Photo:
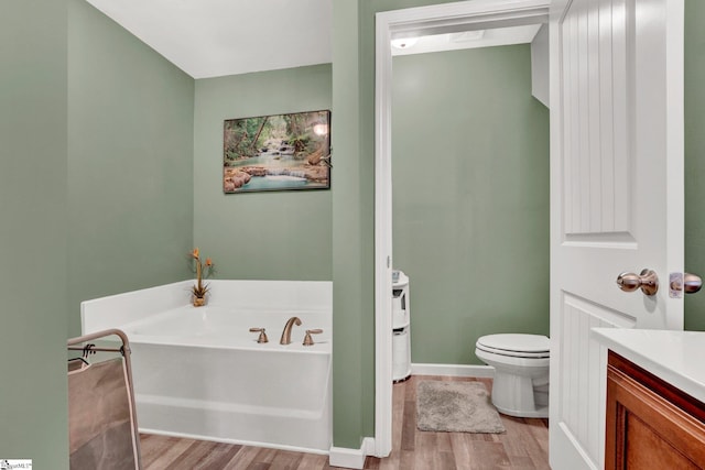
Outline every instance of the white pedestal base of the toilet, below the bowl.
POLYGON ((503 373, 495 369, 492 404, 509 416, 547 418, 547 379, 503 373))

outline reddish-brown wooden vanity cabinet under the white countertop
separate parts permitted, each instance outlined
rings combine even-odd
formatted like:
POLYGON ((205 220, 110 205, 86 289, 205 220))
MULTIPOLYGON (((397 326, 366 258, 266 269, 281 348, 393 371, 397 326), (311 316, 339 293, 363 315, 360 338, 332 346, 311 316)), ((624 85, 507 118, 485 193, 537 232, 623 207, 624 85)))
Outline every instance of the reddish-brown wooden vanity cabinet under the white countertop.
POLYGON ((705 469, 705 404, 612 351, 606 423, 605 469, 705 469))

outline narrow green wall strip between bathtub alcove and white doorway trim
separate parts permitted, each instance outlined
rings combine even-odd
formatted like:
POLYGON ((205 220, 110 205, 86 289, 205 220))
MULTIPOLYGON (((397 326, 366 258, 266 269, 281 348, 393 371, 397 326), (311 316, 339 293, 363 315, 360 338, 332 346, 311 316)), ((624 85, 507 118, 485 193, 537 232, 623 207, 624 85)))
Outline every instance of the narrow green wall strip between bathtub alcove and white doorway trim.
POLYGON ((375 435, 375 14, 423 0, 333 2, 334 445, 375 435), (343 181, 341 181, 343 179, 343 181))

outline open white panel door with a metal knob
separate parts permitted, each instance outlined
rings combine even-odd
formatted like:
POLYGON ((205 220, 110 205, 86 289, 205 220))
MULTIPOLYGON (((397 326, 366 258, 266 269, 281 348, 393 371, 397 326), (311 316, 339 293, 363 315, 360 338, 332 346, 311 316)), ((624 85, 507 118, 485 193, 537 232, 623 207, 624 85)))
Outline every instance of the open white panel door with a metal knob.
POLYGON ((683 0, 554 0, 550 33, 551 467, 601 469, 590 329, 683 328, 683 0), (647 267, 655 295, 618 288, 647 267))

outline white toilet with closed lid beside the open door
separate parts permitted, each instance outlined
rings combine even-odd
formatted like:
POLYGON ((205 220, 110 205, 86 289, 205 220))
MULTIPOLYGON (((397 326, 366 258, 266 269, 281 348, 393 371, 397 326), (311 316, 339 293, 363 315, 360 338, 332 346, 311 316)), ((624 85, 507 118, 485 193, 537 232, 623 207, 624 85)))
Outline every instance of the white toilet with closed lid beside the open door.
POLYGON ((549 338, 542 335, 488 335, 475 356, 495 368, 492 404, 500 413, 549 417, 549 338))

